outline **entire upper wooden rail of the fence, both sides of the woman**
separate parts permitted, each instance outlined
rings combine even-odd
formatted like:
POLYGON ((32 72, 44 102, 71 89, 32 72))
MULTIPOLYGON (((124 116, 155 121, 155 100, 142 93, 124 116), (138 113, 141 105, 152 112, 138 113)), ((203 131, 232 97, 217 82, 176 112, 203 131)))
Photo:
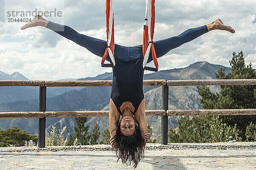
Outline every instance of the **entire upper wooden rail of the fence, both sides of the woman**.
MULTIPOLYGON (((0 80, 0 86, 111 86, 112 80, 0 80)), ((256 79, 198 79, 198 80, 143 80, 143 85, 167 85, 167 86, 190 86, 190 85, 256 85, 256 79)))

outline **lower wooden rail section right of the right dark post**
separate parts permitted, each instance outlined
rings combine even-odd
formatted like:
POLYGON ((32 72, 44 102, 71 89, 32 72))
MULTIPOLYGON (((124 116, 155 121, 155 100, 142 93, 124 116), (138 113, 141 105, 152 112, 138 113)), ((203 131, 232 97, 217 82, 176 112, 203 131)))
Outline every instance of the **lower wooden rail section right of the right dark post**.
POLYGON ((167 116, 254 115, 256 109, 168 110, 167 116))

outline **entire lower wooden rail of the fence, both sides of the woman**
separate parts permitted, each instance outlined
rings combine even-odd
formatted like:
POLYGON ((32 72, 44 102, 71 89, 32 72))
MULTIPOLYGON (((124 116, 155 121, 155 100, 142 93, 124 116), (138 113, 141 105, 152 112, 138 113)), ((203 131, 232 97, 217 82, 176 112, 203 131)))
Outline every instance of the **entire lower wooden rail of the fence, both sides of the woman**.
MULTIPOLYGON (((146 116, 164 116, 165 110, 146 110, 146 116)), ((256 115, 256 109, 168 110, 167 116, 256 115)), ((0 112, 0 118, 108 117, 108 111, 0 112)))

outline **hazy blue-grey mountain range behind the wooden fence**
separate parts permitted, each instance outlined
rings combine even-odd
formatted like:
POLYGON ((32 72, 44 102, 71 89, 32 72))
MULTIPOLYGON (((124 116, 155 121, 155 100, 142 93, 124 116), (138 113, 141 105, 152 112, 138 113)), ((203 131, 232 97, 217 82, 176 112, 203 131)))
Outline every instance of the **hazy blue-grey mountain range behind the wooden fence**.
MULTIPOLYGON (((144 79, 216 79, 215 72, 221 65, 209 62, 195 62, 185 68, 158 71, 145 74, 144 79)), ((222 66, 224 67, 224 66, 222 66)), ((225 74, 231 72, 231 68, 225 67, 225 74)), ((111 80, 112 73, 104 73, 96 77, 87 77, 77 80, 111 80)), ((11 75, 0 71, 0 79, 25 79, 22 74, 15 72, 11 75)), ((74 79, 61 79, 74 80, 74 79)), ((219 86, 209 86, 211 91, 220 91, 219 86)), ((161 109, 162 95, 160 86, 144 86, 145 109, 161 109)), ((108 110, 111 87, 47 87, 46 111, 95 111, 108 110)), ((0 87, 0 112, 7 111, 38 111, 39 87, 0 87)), ((169 109, 202 109, 200 96, 196 86, 169 87, 169 109)), ((176 128, 180 116, 169 117, 169 127, 176 128)), ((108 126, 108 117, 88 117, 86 125, 89 131, 95 123, 100 126, 101 132, 108 126)), ((160 141, 161 116, 147 116, 147 123, 153 132, 152 138, 160 141)), ((67 126, 67 135, 74 135, 74 118, 47 118, 47 131, 54 125, 57 128, 67 126)), ((0 128, 7 129, 13 126, 26 130, 30 134, 38 134, 38 119, 36 118, 14 118, 0 119, 0 128)))

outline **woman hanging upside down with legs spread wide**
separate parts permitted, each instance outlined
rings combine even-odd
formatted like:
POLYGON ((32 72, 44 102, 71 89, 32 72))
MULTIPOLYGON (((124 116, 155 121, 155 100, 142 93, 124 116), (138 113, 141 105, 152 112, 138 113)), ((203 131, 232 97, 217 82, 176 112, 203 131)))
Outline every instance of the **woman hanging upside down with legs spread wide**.
MULTIPOLYGON (((107 42, 83 34, 79 34, 69 26, 53 23, 37 15, 21 29, 43 26, 87 48, 93 54, 103 57, 107 42)), ((170 50, 192 41, 211 30, 225 30, 235 33, 230 26, 224 25, 220 19, 197 28, 190 28, 178 36, 154 42, 157 58, 170 50)), ((134 167, 144 158, 145 144, 149 133, 145 116, 143 94, 143 49, 142 45, 126 47, 115 44, 113 81, 109 109, 110 143, 122 163, 134 163, 134 167), (119 120, 120 115, 122 116, 119 120)), ((107 60, 113 64, 109 55, 107 60)), ((151 52, 148 62, 151 62, 151 52)))

